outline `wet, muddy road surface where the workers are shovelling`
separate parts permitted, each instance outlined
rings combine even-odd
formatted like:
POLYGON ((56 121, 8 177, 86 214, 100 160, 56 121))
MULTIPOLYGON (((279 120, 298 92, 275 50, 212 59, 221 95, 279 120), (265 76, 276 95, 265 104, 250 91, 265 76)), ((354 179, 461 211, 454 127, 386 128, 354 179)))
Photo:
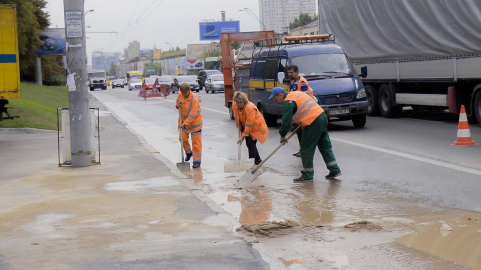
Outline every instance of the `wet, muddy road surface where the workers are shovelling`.
MULTIPOLYGON (((180 161, 174 96, 144 101, 126 90, 93 94, 171 162, 180 161)), ((253 183, 237 184, 243 172, 223 170, 226 162, 236 159, 235 123, 222 107, 222 94, 202 94, 202 98, 203 161, 189 174, 192 181, 239 225, 292 219, 313 226, 279 237, 259 237, 254 246, 259 245, 261 254, 270 252, 292 269, 481 269, 481 223, 476 220, 481 214, 466 211, 481 210, 479 188, 473 188, 479 187, 481 171, 473 167, 471 158, 448 163, 439 149, 418 150, 425 152, 418 155, 412 148, 381 147, 382 140, 373 139, 372 129, 335 124, 330 134, 343 170, 338 180, 324 179, 327 169, 316 153, 315 181, 294 184, 292 179, 301 169, 300 159, 292 156, 299 148, 294 137, 265 163, 267 172, 253 183), (343 227, 359 220, 378 224, 382 230, 354 232, 343 227), (439 227, 444 222, 453 231, 442 236, 439 227), (458 244, 466 241, 472 244, 458 244)), ((261 156, 278 143, 278 128, 270 131, 266 144, 259 147, 261 156)), ((473 149, 466 150, 468 157, 473 149)), ((242 157, 248 160, 245 145, 242 157)))

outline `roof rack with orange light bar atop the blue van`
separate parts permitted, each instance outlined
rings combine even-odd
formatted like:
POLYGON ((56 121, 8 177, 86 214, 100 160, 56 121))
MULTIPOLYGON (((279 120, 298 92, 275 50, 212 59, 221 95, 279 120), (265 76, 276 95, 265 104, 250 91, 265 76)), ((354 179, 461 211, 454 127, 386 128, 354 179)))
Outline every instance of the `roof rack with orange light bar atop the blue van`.
POLYGON ((334 34, 317 34, 317 35, 299 35, 299 36, 284 36, 275 38, 266 38, 254 41, 254 50, 252 51, 252 57, 254 58, 256 53, 259 53, 258 57, 261 56, 261 52, 268 51, 266 56, 279 56, 279 51, 281 47, 290 44, 314 44, 314 43, 325 43, 325 42, 336 42, 334 34), (286 42, 283 42, 286 41, 286 42), (269 49, 267 49, 269 48, 269 49), (275 52, 275 55, 271 54, 275 52))

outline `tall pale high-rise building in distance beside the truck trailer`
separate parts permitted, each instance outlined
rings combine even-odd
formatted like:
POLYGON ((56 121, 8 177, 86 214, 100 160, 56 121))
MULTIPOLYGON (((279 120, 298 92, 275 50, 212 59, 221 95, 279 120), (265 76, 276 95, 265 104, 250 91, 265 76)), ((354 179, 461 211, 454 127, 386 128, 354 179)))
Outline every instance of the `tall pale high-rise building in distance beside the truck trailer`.
MULTIPOLYGON (((259 17, 266 30, 288 32, 289 23, 302 13, 314 17, 316 0, 259 0, 259 17)), ((261 29, 263 26, 261 25, 261 29)))

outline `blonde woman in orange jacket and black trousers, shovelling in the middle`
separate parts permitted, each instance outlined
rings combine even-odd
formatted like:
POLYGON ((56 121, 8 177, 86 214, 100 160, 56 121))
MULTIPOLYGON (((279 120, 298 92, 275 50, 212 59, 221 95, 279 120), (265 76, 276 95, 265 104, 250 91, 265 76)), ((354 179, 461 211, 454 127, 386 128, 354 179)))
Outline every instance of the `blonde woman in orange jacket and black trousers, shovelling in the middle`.
POLYGON ((235 124, 242 132, 237 143, 242 143, 246 139, 249 149, 249 158, 254 158, 254 164, 258 165, 262 159, 257 150, 256 143, 259 141, 264 144, 269 136, 269 128, 259 109, 253 102, 249 101, 243 92, 235 92, 232 103, 232 111, 235 117, 235 124))

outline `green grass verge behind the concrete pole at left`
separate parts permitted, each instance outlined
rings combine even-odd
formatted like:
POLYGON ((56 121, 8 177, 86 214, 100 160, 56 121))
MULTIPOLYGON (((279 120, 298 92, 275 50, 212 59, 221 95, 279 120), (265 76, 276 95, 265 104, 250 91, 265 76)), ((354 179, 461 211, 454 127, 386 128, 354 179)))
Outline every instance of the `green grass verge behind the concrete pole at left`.
MULTIPOLYGON (((21 98, 10 99, 11 115, 20 118, 4 119, 0 127, 33 127, 57 130, 57 108, 69 106, 67 86, 40 86, 21 83, 21 98)), ((4 114, 4 116, 6 116, 4 114)))

